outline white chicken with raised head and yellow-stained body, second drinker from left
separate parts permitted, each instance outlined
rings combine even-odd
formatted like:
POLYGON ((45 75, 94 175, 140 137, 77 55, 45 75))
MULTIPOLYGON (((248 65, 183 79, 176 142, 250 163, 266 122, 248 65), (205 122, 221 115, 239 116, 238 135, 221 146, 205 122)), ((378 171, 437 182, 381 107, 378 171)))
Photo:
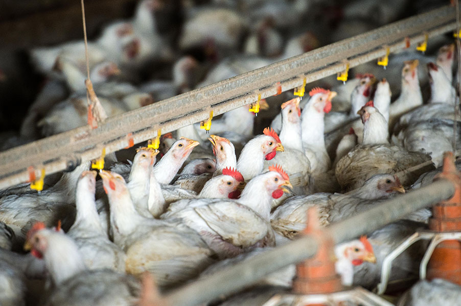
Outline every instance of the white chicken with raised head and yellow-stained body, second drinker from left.
POLYGON ((169 286, 195 276, 212 259, 213 251, 188 226, 145 218, 133 205, 123 177, 101 171, 110 204, 113 241, 126 253, 126 272, 149 271, 159 286, 169 286))

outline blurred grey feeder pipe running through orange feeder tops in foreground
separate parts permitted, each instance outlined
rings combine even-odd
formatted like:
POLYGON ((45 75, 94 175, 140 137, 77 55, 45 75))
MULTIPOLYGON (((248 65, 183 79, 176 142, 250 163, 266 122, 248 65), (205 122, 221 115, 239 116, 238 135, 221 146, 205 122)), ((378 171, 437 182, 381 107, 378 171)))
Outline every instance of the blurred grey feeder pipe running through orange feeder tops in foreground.
MULTIPOLYGON (((336 243, 348 241, 433 203, 451 198, 454 191, 452 182, 439 180, 408 194, 389 199, 354 217, 331 224, 325 231, 336 243)), ((271 272, 313 256, 316 248, 315 238, 306 235, 176 289, 165 296, 166 304, 193 306, 237 292, 271 272)))

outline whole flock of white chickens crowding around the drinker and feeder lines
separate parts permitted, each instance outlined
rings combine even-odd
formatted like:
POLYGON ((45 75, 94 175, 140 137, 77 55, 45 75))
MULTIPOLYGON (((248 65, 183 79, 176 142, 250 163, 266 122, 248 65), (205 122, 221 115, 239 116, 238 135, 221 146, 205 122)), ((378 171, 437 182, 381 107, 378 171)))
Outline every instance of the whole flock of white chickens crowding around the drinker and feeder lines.
MULTIPOLYGON (((286 40, 278 32, 294 27, 315 2, 253 0, 246 18, 232 1, 216 2, 184 1, 190 13, 177 47, 184 53, 201 48, 210 59, 201 83, 191 82, 203 67, 189 55, 177 57, 172 80, 139 83, 136 72, 152 59, 175 57, 152 14, 162 1, 140 1, 131 20, 108 25, 89 42, 90 79, 108 116, 317 44, 311 33, 286 40), (291 13, 283 15, 285 10, 291 13), (244 54, 229 55, 239 44, 244 54)), ((48 81, 20 136, 4 148, 86 124, 83 41, 30 54, 48 81)), ((405 50, 391 55, 386 70, 374 63, 358 67, 366 73, 344 85, 321 80, 317 84, 330 89, 308 84, 303 98, 286 93, 262 101, 261 114, 272 121, 256 135, 255 115, 244 106, 214 119, 211 135, 198 124, 182 127, 163 135, 158 150, 125 151, 128 162, 111 155, 109 170, 90 171, 85 162, 47 177, 40 193, 26 184, 0 191, 0 305, 156 305, 149 288, 142 288, 146 272, 165 292, 296 239, 311 207, 326 226, 429 184, 441 171, 443 152, 461 149, 461 127, 454 121, 461 118, 454 109, 456 54, 446 39, 436 55, 405 50)), ((430 216, 424 209, 337 245, 343 285, 375 288, 385 256, 427 228, 430 216)), ((390 293, 401 305, 459 304, 461 288, 443 280, 411 287, 408 279, 417 279, 425 248, 414 244, 397 259, 390 275, 397 290, 390 293), (429 300, 434 295, 438 299, 429 300)), ((259 305, 290 290, 294 277, 288 266, 213 304, 259 305)))

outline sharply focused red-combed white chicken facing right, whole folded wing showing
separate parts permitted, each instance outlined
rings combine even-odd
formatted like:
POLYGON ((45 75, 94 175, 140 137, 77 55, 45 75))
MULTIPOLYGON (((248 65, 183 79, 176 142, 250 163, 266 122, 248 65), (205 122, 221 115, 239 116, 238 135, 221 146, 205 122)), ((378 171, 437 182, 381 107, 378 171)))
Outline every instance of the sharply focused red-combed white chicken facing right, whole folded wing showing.
POLYGON ((280 167, 251 179, 236 201, 196 199, 174 202, 162 219, 179 218, 194 228, 220 258, 234 257, 251 247, 272 246, 270 202, 292 187, 280 167))

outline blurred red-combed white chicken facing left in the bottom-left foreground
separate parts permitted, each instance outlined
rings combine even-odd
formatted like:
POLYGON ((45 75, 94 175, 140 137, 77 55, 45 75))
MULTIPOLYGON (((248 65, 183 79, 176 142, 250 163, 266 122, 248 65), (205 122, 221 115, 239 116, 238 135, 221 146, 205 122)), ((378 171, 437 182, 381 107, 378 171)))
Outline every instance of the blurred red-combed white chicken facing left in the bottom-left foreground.
POLYGON ((36 223, 25 248, 43 258, 54 285, 46 305, 131 305, 140 284, 132 276, 112 270, 87 270, 75 242, 61 232, 36 223))

